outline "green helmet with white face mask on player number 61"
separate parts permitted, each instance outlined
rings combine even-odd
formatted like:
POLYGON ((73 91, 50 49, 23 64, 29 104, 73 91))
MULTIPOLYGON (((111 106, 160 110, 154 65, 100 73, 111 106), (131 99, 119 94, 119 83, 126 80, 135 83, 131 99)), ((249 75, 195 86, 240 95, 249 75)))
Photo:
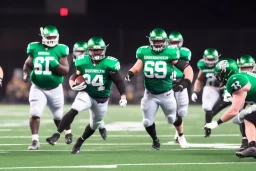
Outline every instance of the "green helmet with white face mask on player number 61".
POLYGON ((59 32, 55 26, 40 27, 42 44, 48 47, 54 47, 59 44, 59 32))

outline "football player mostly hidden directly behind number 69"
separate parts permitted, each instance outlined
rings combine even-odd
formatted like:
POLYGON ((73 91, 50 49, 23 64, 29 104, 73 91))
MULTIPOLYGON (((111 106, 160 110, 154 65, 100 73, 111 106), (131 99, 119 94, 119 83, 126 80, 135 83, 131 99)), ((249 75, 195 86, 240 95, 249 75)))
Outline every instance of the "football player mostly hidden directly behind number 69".
MULTIPOLYGON (((173 31, 169 34, 169 45, 177 47, 180 51, 180 59, 188 62, 191 60, 191 51, 188 48, 182 47, 183 45, 183 36, 181 33, 173 31)), ((173 84, 175 85, 181 79, 183 79, 184 74, 177 67, 174 66, 173 71, 173 84)), ((177 101, 177 117, 181 122, 180 125, 174 125, 176 128, 176 133, 174 139, 180 144, 182 148, 188 148, 188 143, 185 136, 183 135, 183 121, 182 118, 188 113, 188 90, 187 88, 183 89, 181 92, 174 92, 174 97, 177 101)))

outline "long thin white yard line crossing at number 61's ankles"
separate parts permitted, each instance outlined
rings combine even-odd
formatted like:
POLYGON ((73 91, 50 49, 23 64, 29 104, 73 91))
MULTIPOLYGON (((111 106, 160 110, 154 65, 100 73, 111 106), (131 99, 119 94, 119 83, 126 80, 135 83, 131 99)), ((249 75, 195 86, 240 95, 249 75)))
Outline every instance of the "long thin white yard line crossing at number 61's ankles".
MULTIPOLYGON (((50 135, 49 135, 50 136, 50 135)), ((40 136, 39 138, 48 138, 49 136, 40 136)), ((79 137, 80 135, 74 135, 75 137, 79 137)), ((168 137, 173 137, 174 134, 170 134, 170 135, 159 135, 158 137, 162 137, 162 138, 168 138, 168 137)), ((204 137, 203 134, 191 134, 191 135, 185 135, 186 137, 204 137)), ((240 134, 215 134, 215 135, 211 135, 211 137, 239 137, 240 134)), ((92 136, 93 138, 101 138, 100 136, 94 135, 92 136)), ((113 138, 131 138, 131 137, 136 137, 136 138, 148 138, 149 135, 108 135, 108 137, 113 137, 113 138)), ((8 138, 31 138, 31 136, 0 136, 0 139, 8 139, 8 138)))

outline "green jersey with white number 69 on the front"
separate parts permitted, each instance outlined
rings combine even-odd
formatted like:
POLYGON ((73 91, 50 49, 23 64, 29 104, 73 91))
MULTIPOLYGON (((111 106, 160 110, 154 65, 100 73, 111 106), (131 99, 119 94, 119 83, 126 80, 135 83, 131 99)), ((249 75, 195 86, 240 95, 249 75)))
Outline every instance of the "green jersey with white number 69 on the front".
POLYGON ((154 52, 150 46, 137 49, 136 58, 143 62, 144 86, 153 94, 172 89, 172 61, 179 59, 179 50, 168 46, 161 52, 154 52))

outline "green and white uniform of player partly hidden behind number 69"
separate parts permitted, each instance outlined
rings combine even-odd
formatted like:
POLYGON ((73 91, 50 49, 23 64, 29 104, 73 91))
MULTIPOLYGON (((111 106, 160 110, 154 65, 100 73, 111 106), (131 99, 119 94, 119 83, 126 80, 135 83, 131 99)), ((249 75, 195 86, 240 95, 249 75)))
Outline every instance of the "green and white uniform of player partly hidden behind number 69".
MULTIPOLYGON (((181 47, 180 48, 180 59, 183 59, 186 62, 189 62, 191 60, 191 51, 188 48, 181 47)), ((184 77, 184 74, 182 71, 180 71, 178 68, 174 66, 174 72, 173 72, 173 81, 174 84, 176 81, 181 80, 184 77)), ((177 101, 177 114, 180 117, 184 117, 188 113, 188 90, 187 88, 183 89, 181 92, 175 92, 175 99, 177 101)))

